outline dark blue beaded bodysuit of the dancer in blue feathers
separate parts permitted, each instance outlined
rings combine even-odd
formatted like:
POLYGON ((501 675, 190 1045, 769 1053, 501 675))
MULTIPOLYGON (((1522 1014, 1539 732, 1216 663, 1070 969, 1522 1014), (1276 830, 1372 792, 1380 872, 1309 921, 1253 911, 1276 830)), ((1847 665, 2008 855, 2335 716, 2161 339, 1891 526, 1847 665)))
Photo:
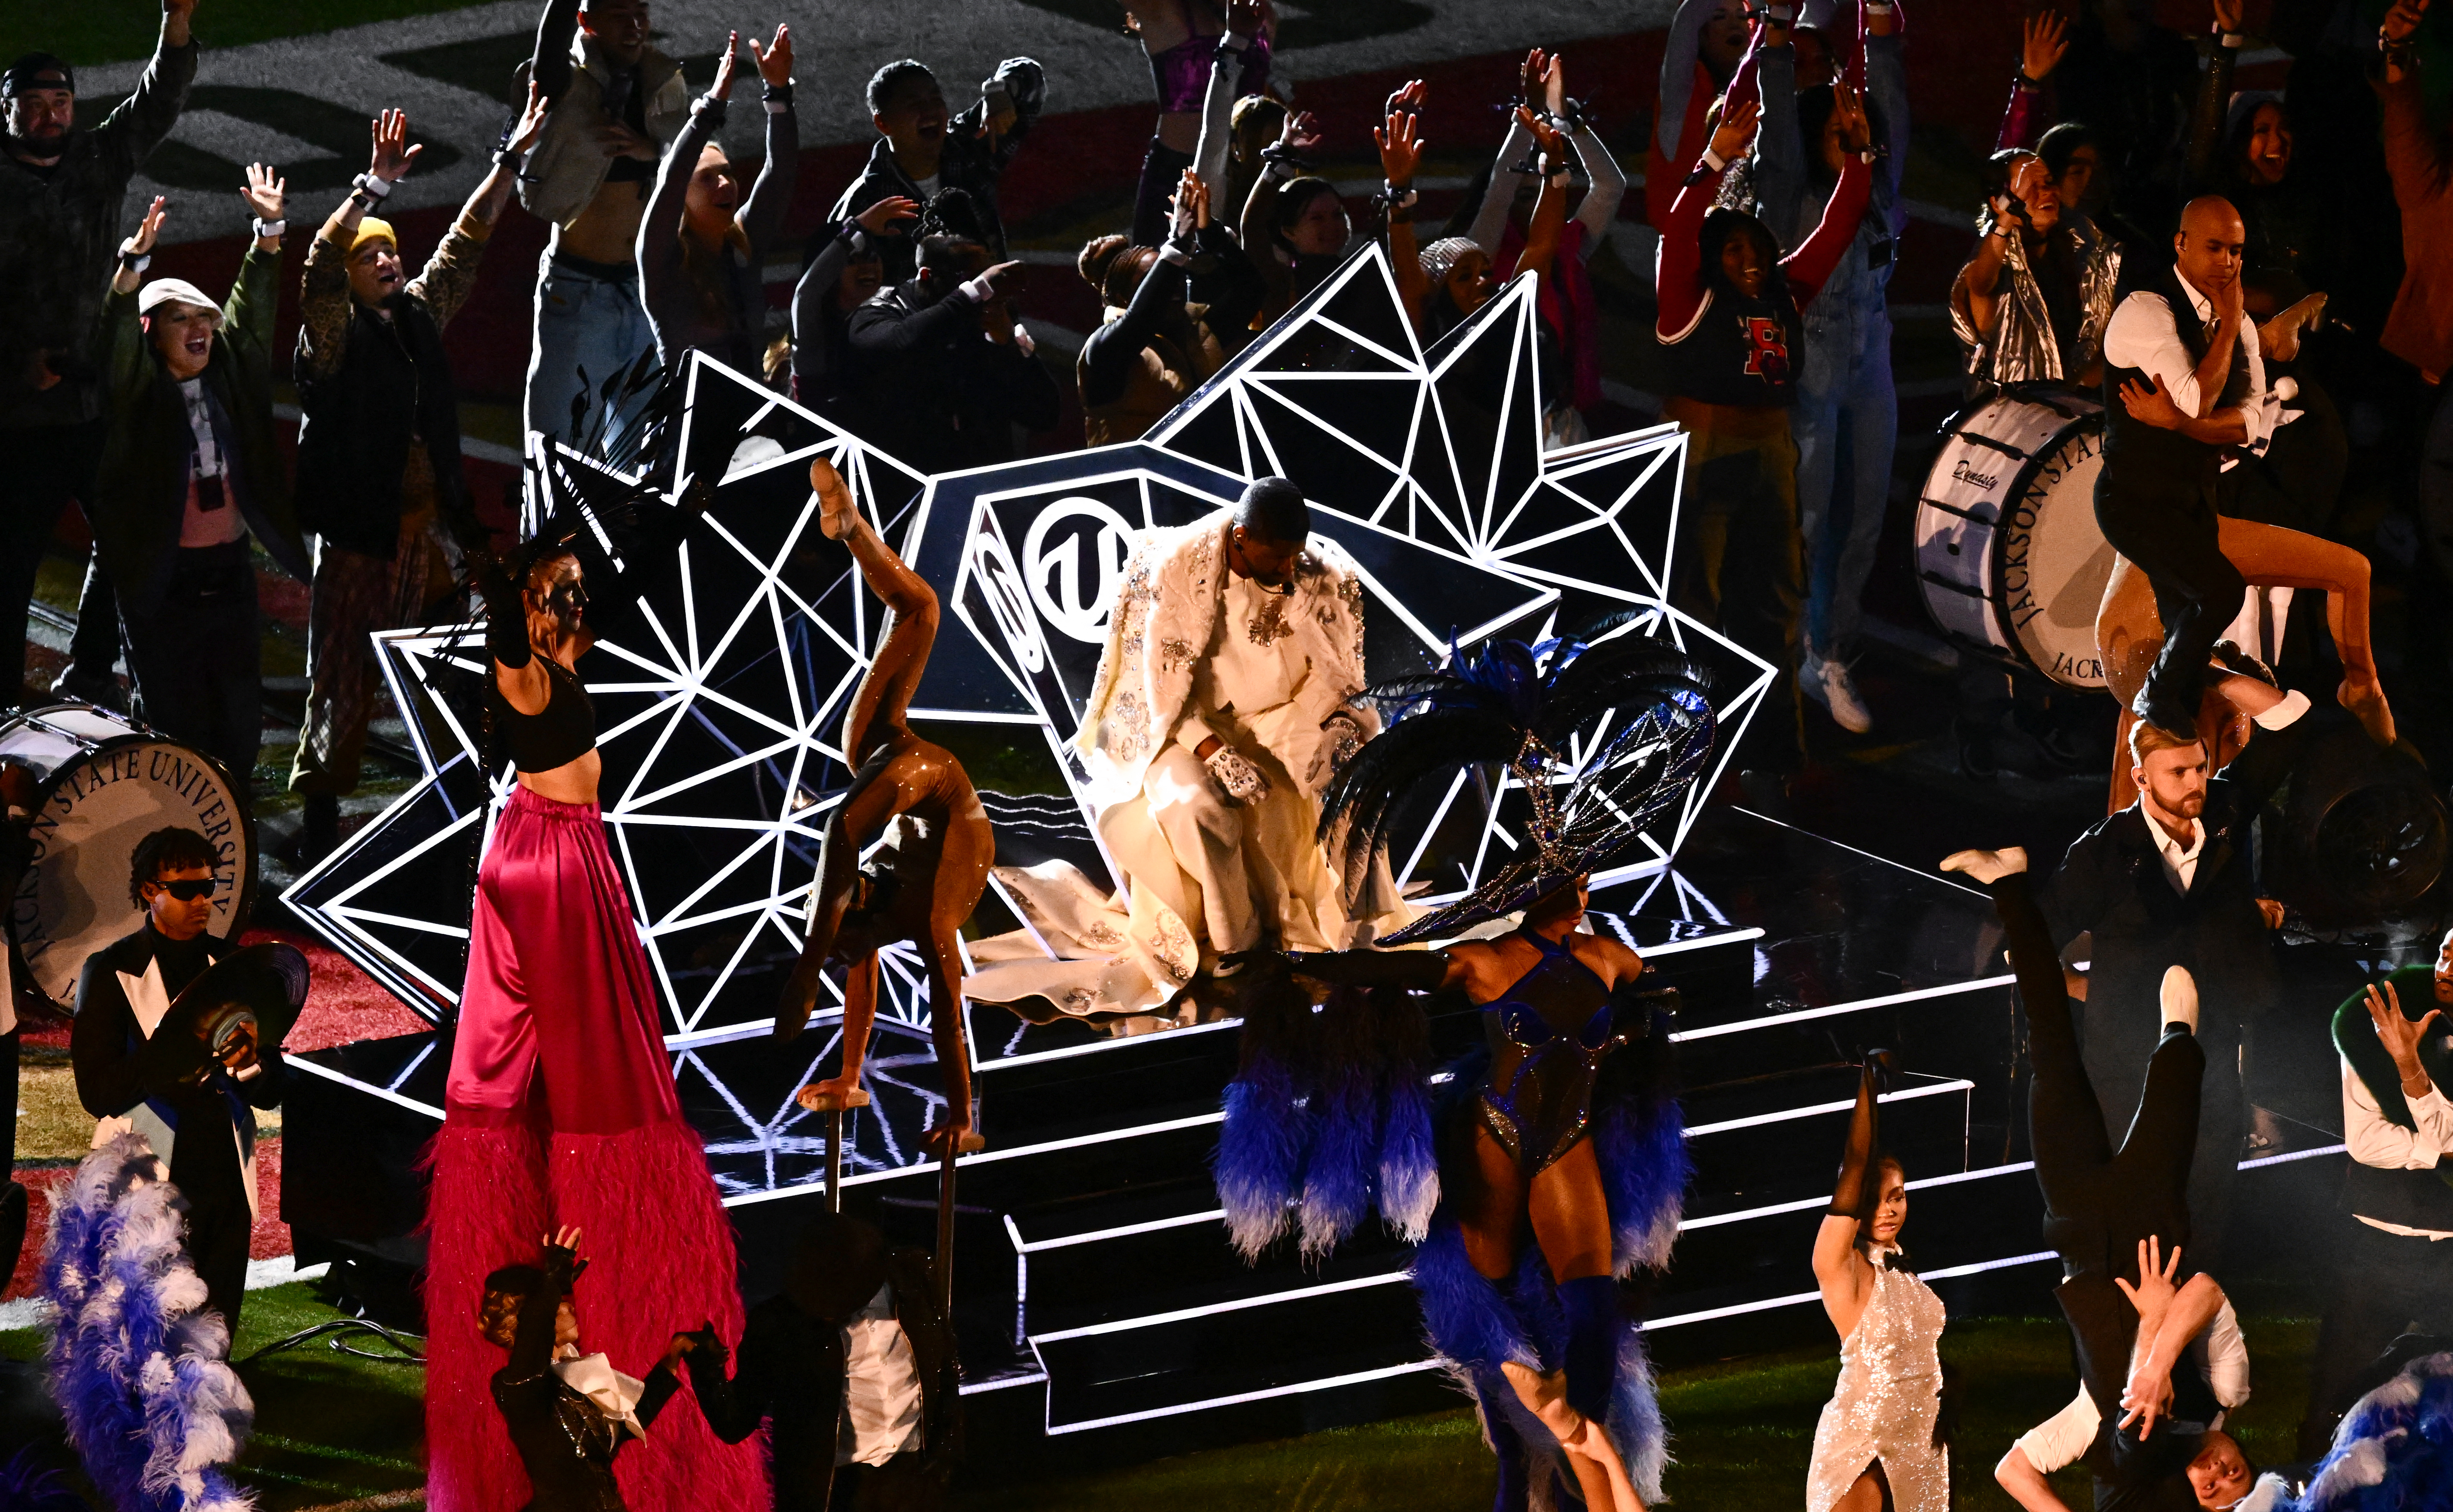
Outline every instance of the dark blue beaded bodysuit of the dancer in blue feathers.
POLYGON ((1484 1002, 1491 1071, 1482 1086, 1482 1122, 1531 1176, 1558 1162, 1592 1122, 1592 1086, 1602 1059, 1619 1049, 1609 985, 1565 941, 1523 931, 1540 963, 1484 1002))

